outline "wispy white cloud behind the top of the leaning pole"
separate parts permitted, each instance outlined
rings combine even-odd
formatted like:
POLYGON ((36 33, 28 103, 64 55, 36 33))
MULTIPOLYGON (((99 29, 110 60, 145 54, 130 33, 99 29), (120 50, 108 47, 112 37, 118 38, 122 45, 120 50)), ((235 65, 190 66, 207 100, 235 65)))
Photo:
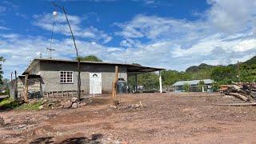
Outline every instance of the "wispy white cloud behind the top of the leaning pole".
MULTIPOLYGON (((66 17, 64 14, 58 13, 55 19, 53 19, 52 14, 34 15, 34 18, 36 19, 34 22, 35 26, 51 31, 53 22, 55 22, 54 32, 70 36, 70 29, 66 23, 66 17)), ((94 26, 86 28, 80 26, 82 25, 82 18, 74 15, 68 15, 68 18, 76 37, 90 38, 92 40, 101 41, 102 43, 111 41, 112 37, 110 35, 104 33, 102 30, 94 28, 94 26)))

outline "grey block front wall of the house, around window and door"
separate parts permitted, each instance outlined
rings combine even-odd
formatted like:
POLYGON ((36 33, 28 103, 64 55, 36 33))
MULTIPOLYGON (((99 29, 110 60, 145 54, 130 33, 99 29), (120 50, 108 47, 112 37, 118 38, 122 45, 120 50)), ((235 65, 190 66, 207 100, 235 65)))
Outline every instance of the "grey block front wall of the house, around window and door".
MULTIPOLYGON (((42 77, 42 92, 77 90, 77 64, 67 62, 40 62, 38 74, 42 77), (61 84, 60 71, 73 71, 73 83, 61 84)), ((110 93, 114 80, 114 65, 81 63, 81 90, 90 93, 90 73, 102 73, 102 94, 110 93)), ((125 66, 118 66, 118 78, 127 81, 125 66)))

